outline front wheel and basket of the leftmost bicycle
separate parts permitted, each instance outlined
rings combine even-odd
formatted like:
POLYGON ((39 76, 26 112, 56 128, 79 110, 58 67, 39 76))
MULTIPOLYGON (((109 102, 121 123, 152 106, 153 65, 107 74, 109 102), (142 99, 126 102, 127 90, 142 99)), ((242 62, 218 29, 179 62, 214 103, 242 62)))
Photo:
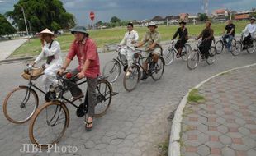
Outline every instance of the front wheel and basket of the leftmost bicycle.
POLYGON ((33 83, 33 80, 44 75, 44 70, 44 66, 32 67, 31 65, 26 65, 22 77, 29 80, 28 85, 20 85, 16 89, 13 89, 9 94, 7 94, 2 105, 3 114, 9 122, 15 124, 25 123, 29 121, 36 112, 36 108, 38 108, 39 104, 36 90, 40 91, 42 94, 46 93, 42 89, 38 88, 33 83), (17 102, 17 100, 21 101, 17 102))

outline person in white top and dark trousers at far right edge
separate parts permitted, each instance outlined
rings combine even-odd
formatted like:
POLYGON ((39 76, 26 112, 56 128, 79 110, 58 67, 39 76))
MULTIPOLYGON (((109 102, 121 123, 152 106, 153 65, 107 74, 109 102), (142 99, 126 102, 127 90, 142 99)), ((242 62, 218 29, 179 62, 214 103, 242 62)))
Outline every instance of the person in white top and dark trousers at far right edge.
POLYGON ((246 25, 245 29, 243 30, 244 40, 243 44, 244 49, 248 48, 248 46, 252 43, 252 39, 255 38, 255 32, 256 32, 256 24, 255 24, 256 18, 252 17, 250 19, 250 23, 246 25))

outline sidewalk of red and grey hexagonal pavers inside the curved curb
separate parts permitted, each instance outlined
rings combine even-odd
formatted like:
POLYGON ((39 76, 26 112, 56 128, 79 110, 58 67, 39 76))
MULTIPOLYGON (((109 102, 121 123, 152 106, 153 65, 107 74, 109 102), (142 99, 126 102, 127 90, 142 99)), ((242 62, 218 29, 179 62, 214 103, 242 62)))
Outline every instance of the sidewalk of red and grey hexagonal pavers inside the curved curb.
POLYGON ((217 76, 198 95, 183 110, 181 155, 255 156, 256 66, 217 76))

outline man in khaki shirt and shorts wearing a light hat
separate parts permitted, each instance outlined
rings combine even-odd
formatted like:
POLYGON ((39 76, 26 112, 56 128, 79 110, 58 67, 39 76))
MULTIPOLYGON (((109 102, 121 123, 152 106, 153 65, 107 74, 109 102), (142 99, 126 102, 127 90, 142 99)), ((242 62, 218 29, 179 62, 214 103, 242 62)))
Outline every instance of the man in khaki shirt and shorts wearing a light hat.
MULTIPOLYGON (((150 22, 148 25, 149 31, 146 32, 142 42, 137 44, 136 46, 136 47, 141 47, 144 44, 146 44, 145 52, 142 53, 142 57, 148 57, 149 54, 152 53, 152 59, 154 64, 158 62, 159 55, 161 54, 161 51, 162 51, 162 48, 160 46, 161 36, 159 32, 155 30, 157 29, 157 27, 158 26, 154 22, 150 22)), ((154 67, 154 64, 152 64, 151 66, 154 67)), ((144 68, 144 71, 143 71, 143 76, 141 80, 146 80, 148 78, 148 75, 147 75, 148 61, 145 60, 142 66, 144 68)))

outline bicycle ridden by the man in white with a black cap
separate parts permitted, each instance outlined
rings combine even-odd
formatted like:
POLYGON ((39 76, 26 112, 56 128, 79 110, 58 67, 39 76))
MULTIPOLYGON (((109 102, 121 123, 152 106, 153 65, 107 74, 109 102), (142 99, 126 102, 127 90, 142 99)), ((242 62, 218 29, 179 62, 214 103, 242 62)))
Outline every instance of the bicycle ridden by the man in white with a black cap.
POLYGON ((108 76, 108 80, 111 83, 114 83, 117 78, 121 74, 121 66, 123 67, 124 71, 126 71, 128 67, 128 62, 122 60, 121 56, 121 47, 116 48, 116 52, 118 52, 118 55, 116 58, 112 59, 110 62, 107 62, 106 65, 103 67, 102 74, 104 76, 108 76))

